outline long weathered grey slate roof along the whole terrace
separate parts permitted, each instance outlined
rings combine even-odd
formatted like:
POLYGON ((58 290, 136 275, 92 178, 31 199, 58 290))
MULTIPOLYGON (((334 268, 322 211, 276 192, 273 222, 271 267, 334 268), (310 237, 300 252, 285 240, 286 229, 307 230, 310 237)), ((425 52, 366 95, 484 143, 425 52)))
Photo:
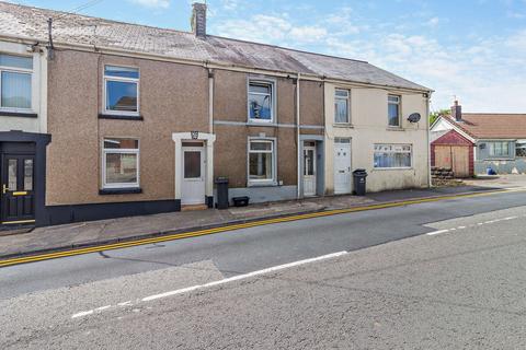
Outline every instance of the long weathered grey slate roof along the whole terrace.
POLYGON ((300 72, 376 85, 430 91, 368 62, 305 52, 193 33, 0 2, 0 35, 47 42, 47 19, 54 18, 54 42, 156 54, 220 65, 300 72))

